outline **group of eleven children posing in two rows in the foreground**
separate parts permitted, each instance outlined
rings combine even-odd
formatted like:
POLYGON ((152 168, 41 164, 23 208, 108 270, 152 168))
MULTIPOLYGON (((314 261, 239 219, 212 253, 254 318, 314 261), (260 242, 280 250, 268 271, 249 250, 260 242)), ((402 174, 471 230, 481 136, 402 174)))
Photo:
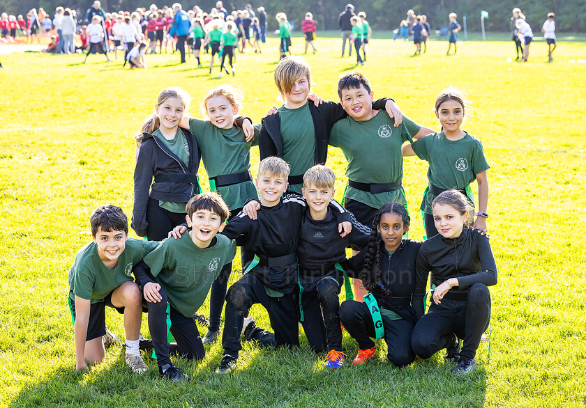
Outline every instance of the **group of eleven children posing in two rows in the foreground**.
POLYGON ((107 305, 125 314, 126 362, 134 372, 147 370, 142 348, 154 350, 161 377, 188 381, 170 354, 201 359, 204 344, 220 337, 225 301, 218 373, 236 368, 241 336, 267 347, 299 346, 299 322, 310 347, 327 353, 329 368, 346 358, 341 322, 359 344, 355 365, 375 355, 370 338, 384 338, 395 366, 446 348, 455 374, 474 369, 497 271, 484 235, 489 166, 481 142, 460 127, 463 96, 455 88, 440 93, 435 113, 442 132, 433 132, 393 100, 375 101, 362 74, 340 76, 339 103, 310 95, 311 80, 303 58, 283 58, 275 81, 285 103, 255 126, 239 116, 239 93, 230 86, 204 97, 205 120, 186 115, 190 97, 183 89, 160 93, 136 136, 132 227, 148 240, 128 238, 119 207, 100 207, 91 217, 93 242, 70 269, 77 368, 104 357, 107 305), (253 181, 256 145, 261 162, 253 181), (343 205, 333 200, 336 175, 324 166, 328 146, 339 147, 348 162, 343 205), (425 242, 407 239, 404 155, 429 162, 421 203, 425 242), (197 178, 200 159, 208 193, 197 178), (243 276, 227 290, 236 246, 243 276), (424 315, 430 272, 435 290, 424 315), (210 290, 202 340, 195 320, 210 290), (253 304, 266 308, 273 332, 256 327, 253 304), (142 310, 152 340, 140 342, 142 310))

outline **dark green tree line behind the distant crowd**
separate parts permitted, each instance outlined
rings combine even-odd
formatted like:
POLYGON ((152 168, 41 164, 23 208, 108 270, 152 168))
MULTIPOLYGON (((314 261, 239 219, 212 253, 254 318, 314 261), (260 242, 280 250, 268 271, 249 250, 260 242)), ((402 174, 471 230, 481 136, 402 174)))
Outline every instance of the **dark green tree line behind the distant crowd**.
MULTIPOLYGON (((169 0, 167 6, 171 6, 175 0, 169 0)), ((183 8, 191 8, 195 4, 203 10, 209 11, 216 4, 216 0, 183 0, 183 8)), ((226 0, 224 6, 227 10, 243 9, 246 0, 226 0)), ((432 29, 440 29, 440 26, 447 26, 449 13, 458 14, 458 22, 462 24, 464 15, 467 15, 467 28, 469 31, 480 31, 480 12, 488 12, 489 18, 485 20, 486 31, 509 31, 511 10, 518 7, 523 10, 527 22, 536 33, 539 33, 541 24, 546 20, 547 13, 553 12, 557 15, 557 31, 562 32, 586 32, 586 0, 255 0, 250 1, 253 10, 264 6, 269 30, 277 29, 277 22, 274 19, 276 13, 283 11, 290 21, 296 23, 298 29, 301 27, 303 15, 310 11, 317 20, 318 30, 338 29, 338 15, 343 11, 345 5, 350 2, 354 4, 355 13, 366 12, 368 22, 375 30, 396 29, 401 20, 407 16, 407 10, 412 9, 416 14, 425 14, 428 17, 432 29), (568 18, 568 16, 573 16, 568 18)), ((83 17, 86 10, 91 6, 93 0, 0 0, 0 12, 9 14, 26 13, 31 8, 43 7, 53 17, 57 6, 69 7, 80 12, 83 17)), ((137 7, 149 8, 151 3, 161 7, 164 4, 160 0, 152 0, 148 3, 145 0, 102 0, 102 6, 106 11, 135 10, 137 7), (159 1, 159 3, 158 3, 159 1)))

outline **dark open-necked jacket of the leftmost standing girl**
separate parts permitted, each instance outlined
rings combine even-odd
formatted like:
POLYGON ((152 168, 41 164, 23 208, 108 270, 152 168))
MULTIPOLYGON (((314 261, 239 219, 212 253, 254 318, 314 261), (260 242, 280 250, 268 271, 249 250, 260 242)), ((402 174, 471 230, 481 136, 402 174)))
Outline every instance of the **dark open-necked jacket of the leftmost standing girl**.
POLYGON ((189 130, 182 129, 189 148, 189 163, 183 163, 163 141, 144 133, 134 172, 134 206, 132 228, 137 235, 147 235, 147 203, 149 197, 159 201, 186 203, 200 193, 197 178, 193 182, 160 182, 162 175, 197 175, 202 153, 189 130), (155 182, 153 182, 153 179, 155 182))

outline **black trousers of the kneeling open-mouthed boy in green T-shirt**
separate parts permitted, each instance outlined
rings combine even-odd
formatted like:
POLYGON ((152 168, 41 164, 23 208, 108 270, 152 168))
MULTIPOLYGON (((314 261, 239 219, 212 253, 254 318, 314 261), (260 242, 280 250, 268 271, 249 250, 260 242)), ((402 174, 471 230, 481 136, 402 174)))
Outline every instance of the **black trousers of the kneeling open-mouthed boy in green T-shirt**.
POLYGON ((159 367, 170 364, 170 354, 179 354, 186 359, 203 359, 206 352, 200 338, 200 331, 192 317, 181 315, 171 306, 170 331, 176 343, 167 343, 167 292, 159 290, 163 299, 158 303, 147 302, 149 308, 149 330, 153 339, 153 348, 159 367))

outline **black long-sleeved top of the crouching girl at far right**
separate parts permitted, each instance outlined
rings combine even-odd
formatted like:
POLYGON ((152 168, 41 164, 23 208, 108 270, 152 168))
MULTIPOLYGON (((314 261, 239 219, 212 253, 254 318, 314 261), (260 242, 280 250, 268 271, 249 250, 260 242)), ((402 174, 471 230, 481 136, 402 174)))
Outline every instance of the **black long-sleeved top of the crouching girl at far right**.
POLYGON ((437 234, 421 246, 413 294, 418 318, 423 315, 423 296, 429 272, 433 274, 432 283, 436 286, 450 278, 458 278, 458 286, 450 291, 465 291, 474 283, 497 284, 497 265, 488 237, 467 228, 457 238, 437 234))

